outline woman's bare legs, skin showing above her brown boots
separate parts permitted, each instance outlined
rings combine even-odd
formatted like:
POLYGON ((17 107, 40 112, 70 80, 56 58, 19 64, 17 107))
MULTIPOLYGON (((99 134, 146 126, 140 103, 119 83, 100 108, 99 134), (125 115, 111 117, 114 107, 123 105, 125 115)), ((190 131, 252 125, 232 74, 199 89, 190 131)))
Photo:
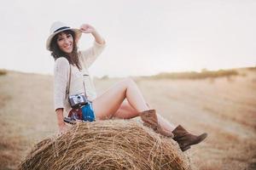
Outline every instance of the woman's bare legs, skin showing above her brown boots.
MULTIPOLYGON (((137 88, 137 84, 130 78, 109 88, 107 92, 93 100, 92 105, 97 119, 111 117, 129 119, 138 116, 139 112, 149 109, 148 104, 143 99, 143 94, 137 88)), ((161 127, 172 132, 174 126, 170 122, 167 122, 159 114, 157 119, 161 127)))

